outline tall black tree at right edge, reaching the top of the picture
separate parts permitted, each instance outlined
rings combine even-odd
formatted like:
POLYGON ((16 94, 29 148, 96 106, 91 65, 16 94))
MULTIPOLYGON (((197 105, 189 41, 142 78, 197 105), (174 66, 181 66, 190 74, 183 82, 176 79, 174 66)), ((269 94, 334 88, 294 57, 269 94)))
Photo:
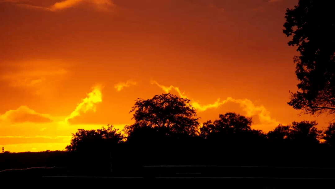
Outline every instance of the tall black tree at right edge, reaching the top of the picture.
POLYGON ((283 33, 293 36, 299 91, 288 102, 306 114, 335 113, 335 11, 331 1, 299 0, 286 10, 283 33))

